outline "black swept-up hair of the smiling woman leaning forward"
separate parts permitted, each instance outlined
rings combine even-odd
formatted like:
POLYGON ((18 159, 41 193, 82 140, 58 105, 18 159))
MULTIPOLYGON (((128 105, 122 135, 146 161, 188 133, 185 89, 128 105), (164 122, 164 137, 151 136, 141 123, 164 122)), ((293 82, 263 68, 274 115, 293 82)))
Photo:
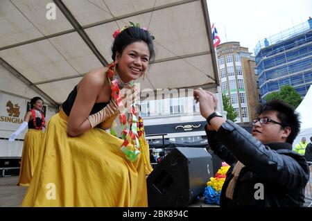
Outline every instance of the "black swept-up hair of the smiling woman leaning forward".
POLYGON ((117 51, 122 54, 126 46, 141 41, 147 44, 148 51, 150 52, 149 61, 153 61, 153 58, 155 58, 155 51, 152 36, 147 30, 136 26, 126 28, 117 35, 112 46, 112 60, 115 60, 117 51))

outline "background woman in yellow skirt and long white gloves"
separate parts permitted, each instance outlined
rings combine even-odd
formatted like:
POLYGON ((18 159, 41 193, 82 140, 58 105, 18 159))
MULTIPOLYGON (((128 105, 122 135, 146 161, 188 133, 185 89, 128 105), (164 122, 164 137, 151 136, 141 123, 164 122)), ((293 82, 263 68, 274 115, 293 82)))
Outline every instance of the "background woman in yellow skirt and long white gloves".
POLYGON ((31 99, 33 108, 26 113, 24 122, 10 136, 9 141, 15 138, 26 128, 23 152, 21 154, 21 167, 19 169, 19 186, 29 186, 39 159, 39 150, 42 144, 42 127, 44 127, 44 114, 42 113, 43 101, 40 97, 31 99))

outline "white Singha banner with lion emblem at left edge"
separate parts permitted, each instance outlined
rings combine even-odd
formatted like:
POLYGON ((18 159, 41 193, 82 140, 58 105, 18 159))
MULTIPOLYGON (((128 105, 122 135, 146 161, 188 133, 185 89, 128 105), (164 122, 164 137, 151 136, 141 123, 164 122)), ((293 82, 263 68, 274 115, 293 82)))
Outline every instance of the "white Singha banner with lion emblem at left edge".
POLYGON ((0 93, 0 130, 15 131, 23 123, 27 100, 0 93))

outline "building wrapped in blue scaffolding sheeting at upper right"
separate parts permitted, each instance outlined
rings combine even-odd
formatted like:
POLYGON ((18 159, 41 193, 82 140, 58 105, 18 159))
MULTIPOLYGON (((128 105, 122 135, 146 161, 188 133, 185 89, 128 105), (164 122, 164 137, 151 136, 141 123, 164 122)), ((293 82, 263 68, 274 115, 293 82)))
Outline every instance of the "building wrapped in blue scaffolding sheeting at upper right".
POLYGON ((312 84, 312 19, 261 40, 254 54, 262 100, 283 85, 304 97, 312 84))

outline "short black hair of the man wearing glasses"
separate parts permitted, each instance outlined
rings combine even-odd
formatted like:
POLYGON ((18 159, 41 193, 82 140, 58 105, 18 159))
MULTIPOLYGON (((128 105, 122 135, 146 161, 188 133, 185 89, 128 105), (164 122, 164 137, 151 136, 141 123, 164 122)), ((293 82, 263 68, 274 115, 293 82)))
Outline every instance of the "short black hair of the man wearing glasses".
POLYGON ((270 100, 268 103, 260 105, 257 109, 257 114, 263 112, 276 111, 278 112, 277 118, 281 121, 281 127, 291 127, 291 134, 288 135, 286 142, 293 144, 296 136, 300 132, 299 114, 295 112, 295 108, 291 105, 284 103, 282 100, 270 100))

